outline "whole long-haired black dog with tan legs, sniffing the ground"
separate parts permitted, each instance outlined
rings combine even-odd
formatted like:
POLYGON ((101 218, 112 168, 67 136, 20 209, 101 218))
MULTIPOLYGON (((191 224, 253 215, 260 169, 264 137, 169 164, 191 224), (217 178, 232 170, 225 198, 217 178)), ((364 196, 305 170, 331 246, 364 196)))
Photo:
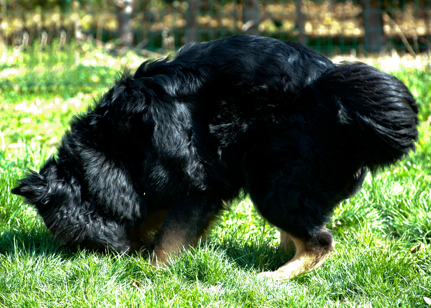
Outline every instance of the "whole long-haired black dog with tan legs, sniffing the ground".
POLYGON ((12 192, 68 245, 153 249, 157 264, 244 189, 294 242, 267 273, 290 277, 326 260, 323 225, 367 170, 414 148, 417 112, 402 82, 363 63, 245 35, 189 44, 125 74, 12 192))

